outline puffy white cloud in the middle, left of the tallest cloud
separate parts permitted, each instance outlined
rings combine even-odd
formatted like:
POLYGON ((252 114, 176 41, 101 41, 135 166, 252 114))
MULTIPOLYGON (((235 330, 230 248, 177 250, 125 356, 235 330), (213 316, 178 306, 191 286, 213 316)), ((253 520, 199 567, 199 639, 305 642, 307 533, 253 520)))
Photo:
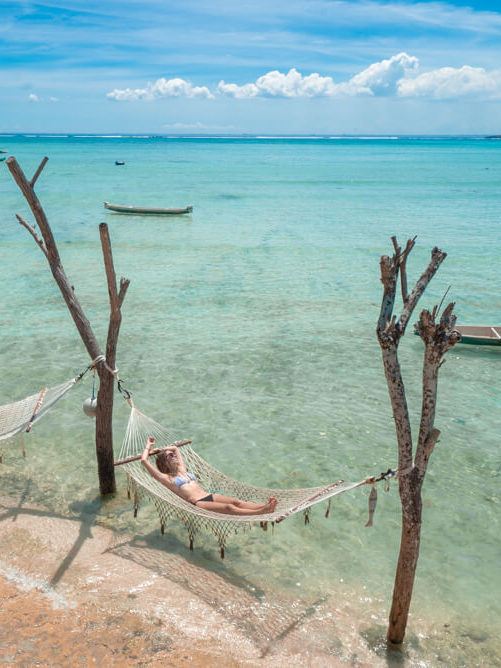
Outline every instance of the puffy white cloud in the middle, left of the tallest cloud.
POLYGON ((255 83, 243 86, 220 81, 217 87, 223 95, 248 98, 257 97, 325 97, 333 94, 334 81, 314 72, 303 76, 294 67, 287 74, 273 70, 259 77, 255 83))

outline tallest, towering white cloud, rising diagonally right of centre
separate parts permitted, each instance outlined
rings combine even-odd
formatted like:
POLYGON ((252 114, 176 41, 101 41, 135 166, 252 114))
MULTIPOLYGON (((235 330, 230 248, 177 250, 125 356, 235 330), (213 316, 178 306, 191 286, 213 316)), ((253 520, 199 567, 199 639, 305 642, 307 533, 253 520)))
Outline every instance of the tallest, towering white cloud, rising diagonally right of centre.
POLYGON ((397 91, 399 82, 418 67, 417 58, 399 53, 369 65, 346 83, 336 86, 336 92, 346 95, 392 95, 397 91))

